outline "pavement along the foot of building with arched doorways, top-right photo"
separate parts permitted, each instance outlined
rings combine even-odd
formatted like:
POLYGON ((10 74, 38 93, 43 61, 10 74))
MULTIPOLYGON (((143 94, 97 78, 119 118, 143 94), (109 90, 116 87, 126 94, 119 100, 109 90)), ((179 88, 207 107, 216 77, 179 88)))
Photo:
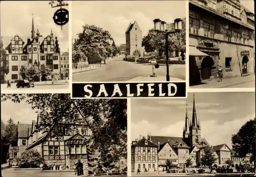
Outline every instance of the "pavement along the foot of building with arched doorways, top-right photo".
POLYGON ((222 79, 222 82, 218 82, 219 79, 210 81, 203 81, 202 84, 191 86, 190 88, 226 88, 255 81, 255 75, 247 75, 245 77, 227 78, 222 79))

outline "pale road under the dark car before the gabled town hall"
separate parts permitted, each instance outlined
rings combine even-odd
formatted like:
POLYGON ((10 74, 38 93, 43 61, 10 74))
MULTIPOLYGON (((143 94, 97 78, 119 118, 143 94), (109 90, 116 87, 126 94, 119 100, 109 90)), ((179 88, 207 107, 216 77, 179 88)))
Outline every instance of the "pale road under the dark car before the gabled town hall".
POLYGON ((68 84, 63 85, 35 85, 35 87, 30 88, 17 88, 15 87, 15 84, 12 84, 11 88, 7 88, 7 84, 1 84, 1 90, 2 92, 5 92, 5 90, 45 90, 45 89, 69 89, 68 84))

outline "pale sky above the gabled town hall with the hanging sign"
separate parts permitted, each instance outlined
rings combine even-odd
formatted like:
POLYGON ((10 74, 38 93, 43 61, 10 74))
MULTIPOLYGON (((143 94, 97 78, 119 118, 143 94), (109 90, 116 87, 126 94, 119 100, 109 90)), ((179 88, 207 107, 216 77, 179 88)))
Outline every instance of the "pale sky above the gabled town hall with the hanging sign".
MULTIPOLYGON (((60 52, 68 52, 69 27, 57 26, 53 15, 59 7, 51 8, 50 1, 1 1, 1 36, 4 45, 18 35, 25 43, 31 37, 32 14, 34 15, 34 28, 45 38, 53 32, 53 37, 58 37, 60 52), (6 40, 5 40, 6 39, 6 40)), ((56 1, 55 1, 56 2, 56 1)), ((67 1, 64 1, 67 3, 67 1)), ((62 7, 68 10, 68 6, 62 7)), ((44 39, 42 38, 42 39, 44 39)))

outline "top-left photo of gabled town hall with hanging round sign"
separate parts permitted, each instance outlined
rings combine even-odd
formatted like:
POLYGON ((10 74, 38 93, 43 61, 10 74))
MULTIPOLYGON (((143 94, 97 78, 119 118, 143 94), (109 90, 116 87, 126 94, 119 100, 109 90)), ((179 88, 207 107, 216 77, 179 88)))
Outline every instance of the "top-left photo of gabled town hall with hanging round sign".
POLYGON ((1 90, 69 89, 69 1, 1 2, 1 90))

